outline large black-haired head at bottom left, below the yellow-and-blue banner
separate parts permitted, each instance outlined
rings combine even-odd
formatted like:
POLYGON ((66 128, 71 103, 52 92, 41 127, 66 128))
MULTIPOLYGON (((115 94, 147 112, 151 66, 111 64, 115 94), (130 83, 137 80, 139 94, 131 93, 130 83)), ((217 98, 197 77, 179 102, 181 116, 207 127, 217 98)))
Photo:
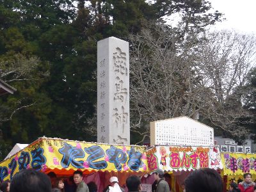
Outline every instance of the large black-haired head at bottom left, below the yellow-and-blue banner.
POLYGON ((21 170, 11 181, 10 192, 51 192, 51 180, 33 169, 21 170))

